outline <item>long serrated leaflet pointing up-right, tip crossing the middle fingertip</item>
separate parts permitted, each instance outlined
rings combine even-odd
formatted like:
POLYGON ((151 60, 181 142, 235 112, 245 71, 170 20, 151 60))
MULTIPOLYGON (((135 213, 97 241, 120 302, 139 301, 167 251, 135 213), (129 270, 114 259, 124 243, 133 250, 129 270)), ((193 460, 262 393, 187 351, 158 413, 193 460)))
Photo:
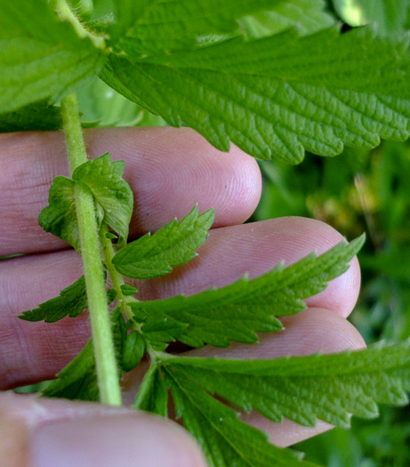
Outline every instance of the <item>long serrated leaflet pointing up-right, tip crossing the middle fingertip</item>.
POLYGON ((178 334, 172 334, 172 329, 168 333, 192 347, 205 343, 227 347, 229 341, 257 342, 257 331, 282 329, 276 316, 304 310, 306 305, 301 299, 318 294, 328 281, 347 270, 364 240, 362 236, 349 245, 341 242, 325 254, 310 254, 286 269, 279 265, 253 280, 245 277, 230 286, 189 297, 178 295, 129 305, 140 321, 146 317, 143 333, 146 329, 150 333, 162 329, 166 318, 188 325, 182 334, 181 329, 178 334))

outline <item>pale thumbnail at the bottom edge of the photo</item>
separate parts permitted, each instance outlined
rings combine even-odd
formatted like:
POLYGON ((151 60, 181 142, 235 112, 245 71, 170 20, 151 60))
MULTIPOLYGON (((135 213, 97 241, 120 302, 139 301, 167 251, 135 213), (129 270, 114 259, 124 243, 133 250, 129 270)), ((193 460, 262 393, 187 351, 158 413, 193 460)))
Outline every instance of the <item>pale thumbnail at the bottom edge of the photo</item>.
POLYGON ((145 414, 45 424, 30 454, 33 467, 206 467, 187 432, 145 414))

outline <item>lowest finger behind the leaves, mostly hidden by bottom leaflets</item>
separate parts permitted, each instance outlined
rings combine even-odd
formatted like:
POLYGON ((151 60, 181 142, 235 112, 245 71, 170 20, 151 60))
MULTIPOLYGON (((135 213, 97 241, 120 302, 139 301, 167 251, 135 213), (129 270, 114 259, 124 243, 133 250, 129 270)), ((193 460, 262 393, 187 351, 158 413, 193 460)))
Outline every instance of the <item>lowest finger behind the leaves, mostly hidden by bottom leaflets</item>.
MULTIPOLYGON (((277 334, 260 334, 261 342, 257 345, 232 344, 228 349, 215 349, 206 346, 204 349, 190 350, 180 355, 186 357, 219 357, 240 359, 269 359, 284 356, 302 356, 316 353, 335 353, 343 350, 358 350, 366 346, 349 321, 336 315, 333 311, 322 308, 310 308, 300 314, 282 318, 285 330, 277 334)), ((123 380, 125 404, 132 404, 135 399, 143 373, 148 364, 125 374, 123 380), (142 371, 141 371, 142 370, 142 371)), ((241 420, 269 434, 270 442, 276 446, 286 447, 330 430, 332 425, 319 421, 315 427, 305 427, 284 419, 282 423, 270 422, 267 418, 251 412, 242 414, 241 420)))

